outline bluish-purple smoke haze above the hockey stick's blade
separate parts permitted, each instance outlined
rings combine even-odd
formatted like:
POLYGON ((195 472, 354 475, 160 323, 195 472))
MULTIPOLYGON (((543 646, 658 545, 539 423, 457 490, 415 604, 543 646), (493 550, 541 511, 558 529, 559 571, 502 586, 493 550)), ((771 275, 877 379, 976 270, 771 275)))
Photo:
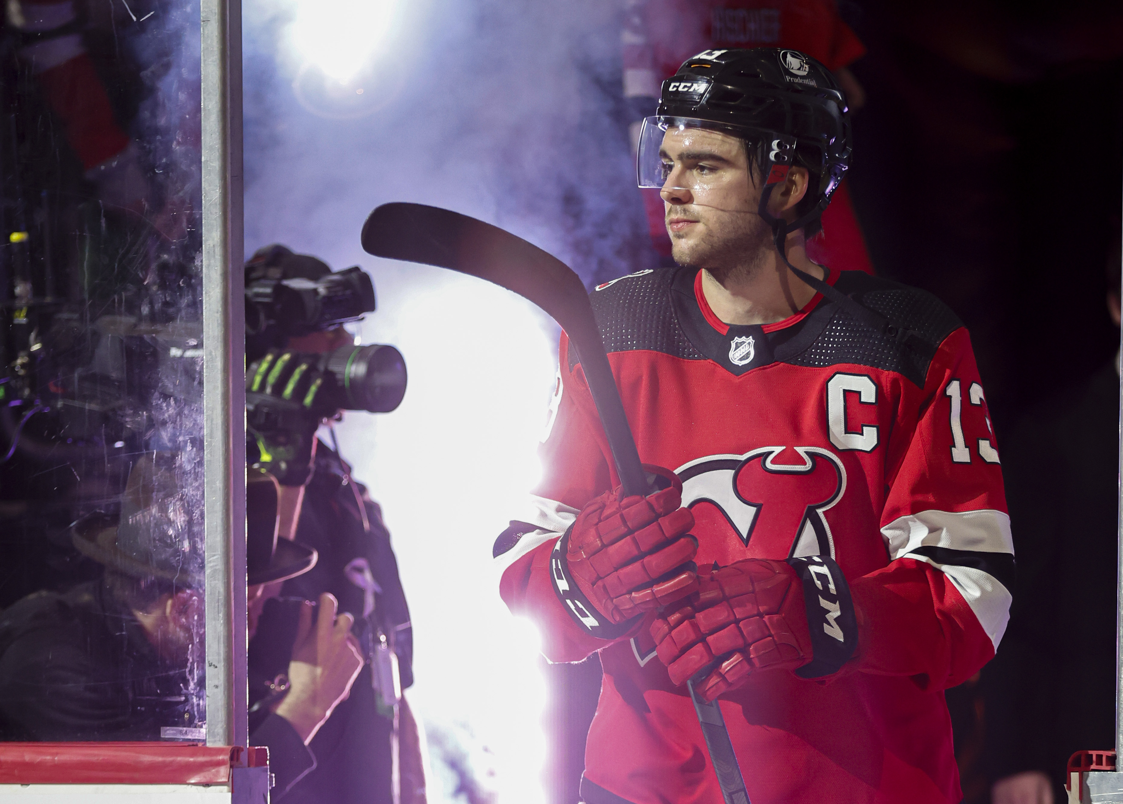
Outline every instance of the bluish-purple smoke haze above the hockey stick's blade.
POLYGON ((586 282, 648 267, 618 3, 402 3, 371 74, 354 82, 385 106, 340 120, 294 91, 298 2, 245 11, 247 248, 299 238, 332 265, 369 263, 362 222, 396 200, 509 228, 586 282))

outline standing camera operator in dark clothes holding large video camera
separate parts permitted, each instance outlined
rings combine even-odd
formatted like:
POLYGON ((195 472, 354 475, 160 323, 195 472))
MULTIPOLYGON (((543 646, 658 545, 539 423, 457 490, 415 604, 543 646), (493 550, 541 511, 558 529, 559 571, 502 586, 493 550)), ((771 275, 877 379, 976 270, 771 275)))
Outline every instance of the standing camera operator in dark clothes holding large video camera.
POLYGON ((356 347, 343 327, 375 307, 373 286, 358 268, 334 274, 316 257, 267 246, 246 264, 246 289, 249 451, 282 483, 282 536, 320 556, 311 572, 265 595, 281 600, 262 606, 250 643, 250 698, 267 695, 273 684, 270 669, 254 668, 286 660, 287 600, 330 592, 354 615, 367 663, 349 698, 310 743, 316 770, 286 801, 423 804, 420 734, 401 694, 412 684, 412 631, 390 535, 339 454, 311 431, 293 437, 299 428, 287 423, 301 415, 318 423, 340 408, 393 410, 404 393, 404 364, 393 347, 356 347), (290 404, 280 404, 279 395, 290 404), (285 511, 301 495, 299 519, 285 527, 285 511))

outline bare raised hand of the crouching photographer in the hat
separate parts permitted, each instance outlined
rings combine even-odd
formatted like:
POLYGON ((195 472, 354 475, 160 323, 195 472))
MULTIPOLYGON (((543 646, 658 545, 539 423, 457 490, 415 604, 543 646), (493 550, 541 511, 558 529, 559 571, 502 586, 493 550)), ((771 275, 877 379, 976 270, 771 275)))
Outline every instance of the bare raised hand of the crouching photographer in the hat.
POLYGON ((319 615, 313 628, 312 603, 300 610, 296 641, 289 663, 289 693, 276 709, 296 730, 307 746, 336 705, 350 694, 363 669, 358 640, 350 632, 355 618, 336 616, 336 599, 320 595, 319 615))

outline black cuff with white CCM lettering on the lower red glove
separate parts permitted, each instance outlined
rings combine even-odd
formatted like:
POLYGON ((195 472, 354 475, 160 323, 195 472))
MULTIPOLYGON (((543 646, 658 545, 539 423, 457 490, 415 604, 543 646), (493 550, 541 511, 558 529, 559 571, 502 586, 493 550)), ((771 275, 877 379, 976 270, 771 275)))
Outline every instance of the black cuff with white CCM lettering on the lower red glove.
POLYGON ((827 556, 788 558, 787 564, 803 582, 813 657, 795 675, 821 678, 838 673, 858 647, 858 620, 850 585, 839 565, 827 556))

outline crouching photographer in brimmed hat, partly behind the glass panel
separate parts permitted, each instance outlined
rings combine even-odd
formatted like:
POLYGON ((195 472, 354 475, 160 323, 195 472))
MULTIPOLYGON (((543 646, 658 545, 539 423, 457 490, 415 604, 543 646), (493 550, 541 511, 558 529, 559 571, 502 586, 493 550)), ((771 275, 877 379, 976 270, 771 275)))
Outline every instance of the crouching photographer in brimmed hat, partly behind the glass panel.
MULTIPOLYGON (((203 579, 184 535, 201 522, 181 476, 176 456, 146 454, 129 474, 119 524, 99 513, 72 529, 103 577, 35 593, 0 618, 3 740, 159 740, 199 724, 185 691, 201 683, 203 579)), ((314 550, 277 539, 277 486, 263 472, 249 473, 247 526, 249 602, 316 564, 314 550)), ((337 616, 329 594, 314 627, 312 609, 300 610, 285 694, 249 736, 270 749, 275 801, 316 766, 307 746, 363 664, 351 616, 337 616)))

